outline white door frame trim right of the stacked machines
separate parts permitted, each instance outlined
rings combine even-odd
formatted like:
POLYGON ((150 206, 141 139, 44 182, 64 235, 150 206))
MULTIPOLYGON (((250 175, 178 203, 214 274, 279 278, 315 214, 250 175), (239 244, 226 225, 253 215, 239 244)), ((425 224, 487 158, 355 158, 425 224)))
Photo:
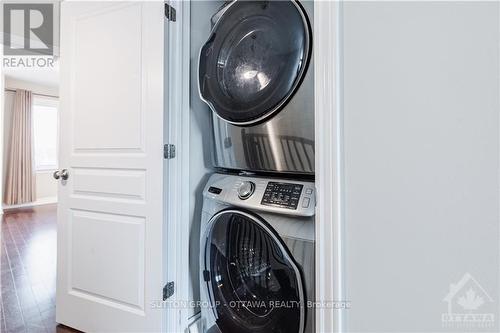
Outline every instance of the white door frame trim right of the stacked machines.
POLYGON ((346 330, 341 27, 342 1, 315 1, 316 298, 334 303, 316 309, 317 332, 346 330))

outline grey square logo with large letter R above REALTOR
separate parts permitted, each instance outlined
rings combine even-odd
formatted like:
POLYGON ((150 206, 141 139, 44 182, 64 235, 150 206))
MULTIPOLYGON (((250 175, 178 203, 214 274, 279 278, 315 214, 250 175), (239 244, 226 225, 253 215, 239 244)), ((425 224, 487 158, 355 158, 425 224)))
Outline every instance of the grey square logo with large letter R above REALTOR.
POLYGON ((53 55, 54 5, 4 4, 3 31, 5 55, 53 55))

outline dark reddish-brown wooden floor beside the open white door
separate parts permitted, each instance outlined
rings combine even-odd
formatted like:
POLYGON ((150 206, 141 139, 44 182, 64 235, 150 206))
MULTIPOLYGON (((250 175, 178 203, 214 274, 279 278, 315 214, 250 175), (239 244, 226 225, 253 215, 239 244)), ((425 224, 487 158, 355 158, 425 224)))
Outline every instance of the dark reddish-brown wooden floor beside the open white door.
POLYGON ((56 206, 4 212, 0 332, 76 332, 57 325, 56 206))

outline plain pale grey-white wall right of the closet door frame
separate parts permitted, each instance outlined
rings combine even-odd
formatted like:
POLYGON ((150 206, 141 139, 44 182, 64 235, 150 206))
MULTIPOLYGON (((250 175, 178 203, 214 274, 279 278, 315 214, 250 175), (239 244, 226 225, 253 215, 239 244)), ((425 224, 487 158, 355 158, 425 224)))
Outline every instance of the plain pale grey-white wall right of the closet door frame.
POLYGON ((466 272, 496 315, 468 331, 498 331, 498 16, 496 2, 344 4, 350 332, 463 331, 441 314, 466 272))

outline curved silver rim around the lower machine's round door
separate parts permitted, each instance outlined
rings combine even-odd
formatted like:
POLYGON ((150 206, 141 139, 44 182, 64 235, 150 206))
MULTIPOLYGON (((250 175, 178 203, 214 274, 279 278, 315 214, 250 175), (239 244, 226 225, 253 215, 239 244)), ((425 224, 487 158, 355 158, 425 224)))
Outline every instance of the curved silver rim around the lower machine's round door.
MULTIPOLYGON (((304 333, 304 329, 305 329, 305 308, 304 308, 304 305, 305 303, 307 302, 307 300, 305 299, 305 296, 304 296, 304 290, 303 290, 303 281, 302 281, 302 275, 300 273, 300 270, 299 268, 297 267, 297 265, 295 265, 295 262, 293 260, 293 258, 291 258, 289 255, 288 255, 288 250, 282 245, 283 244, 283 241, 278 239, 276 237, 276 232, 269 229, 264 223, 262 223, 260 221, 260 218, 257 217, 257 215, 253 215, 253 214, 249 214, 247 212, 243 212, 243 211, 240 211, 240 210, 237 210, 237 209, 226 209, 226 210, 222 210, 216 214, 214 214, 212 216, 212 218, 210 218, 210 220, 208 221, 207 223, 207 226, 206 226, 206 229, 205 229, 205 234, 204 234, 204 239, 205 239, 205 242, 203 244, 203 251, 204 251, 204 267, 202 267, 203 270, 210 270, 210 269, 207 269, 207 268, 210 268, 210 267, 207 267, 206 264, 209 263, 210 264, 210 253, 207 253, 207 243, 208 243, 208 240, 210 238, 210 235, 212 233, 212 228, 213 228, 213 225, 215 223, 215 221, 221 217, 222 215, 225 215, 225 214, 239 214, 239 215, 243 215, 247 218, 249 218, 250 220, 252 220, 253 222, 257 223, 260 227, 262 227, 268 234, 269 236, 275 241, 276 244, 278 244, 278 247, 279 249, 281 250, 281 252, 283 253, 283 255, 285 256, 285 258, 287 259, 287 261, 290 263, 290 266, 292 266, 294 272, 295 272, 295 276, 297 277, 297 280, 298 280, 298 289, 299 289, 299 299, 300 299, 300 330, 299 330, 299 333, 304 333)), ((209 293, 209 301, 212 302, 214 297, 214 292, 213 292, 213 289, 212 289, 212 284, 211 283, 207 283, 207 286, 208 286, 208 293, 209 293)), ((214 313, 214 316, 215 318, 217 319, 217 312, 215 310, 215 307, 212 306, 212 311, 214 313)))

